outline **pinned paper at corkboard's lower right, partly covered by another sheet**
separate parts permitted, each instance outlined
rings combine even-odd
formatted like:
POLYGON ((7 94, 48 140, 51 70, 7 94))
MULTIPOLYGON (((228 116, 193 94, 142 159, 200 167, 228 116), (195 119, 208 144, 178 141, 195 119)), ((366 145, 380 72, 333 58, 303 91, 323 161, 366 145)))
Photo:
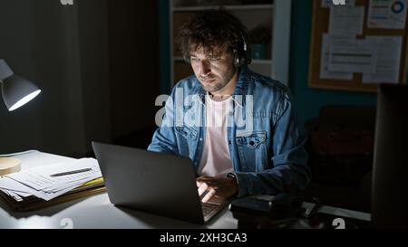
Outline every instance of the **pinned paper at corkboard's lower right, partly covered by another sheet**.
POLYGON ((363 83, 398 83, 403 37, 367 36, 379 43, 377 65, 374 73, 364 73, 363 83))

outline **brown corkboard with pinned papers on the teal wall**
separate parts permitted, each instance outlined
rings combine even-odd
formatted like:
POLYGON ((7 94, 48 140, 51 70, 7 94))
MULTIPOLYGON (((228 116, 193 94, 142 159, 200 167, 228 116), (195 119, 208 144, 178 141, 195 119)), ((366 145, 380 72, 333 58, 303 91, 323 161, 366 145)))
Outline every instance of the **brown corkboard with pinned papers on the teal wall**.
POLYGON ((406 84, 408 0, 313 1, 308 86, 376 92, 406 84))

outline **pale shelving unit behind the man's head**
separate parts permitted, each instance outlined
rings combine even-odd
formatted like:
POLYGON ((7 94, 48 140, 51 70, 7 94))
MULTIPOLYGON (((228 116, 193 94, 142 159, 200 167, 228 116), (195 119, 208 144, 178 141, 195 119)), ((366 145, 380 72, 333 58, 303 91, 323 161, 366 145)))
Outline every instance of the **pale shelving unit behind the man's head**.
MULTIPOLYGON (((189 20, 190 14, 203 10, 218 10, 219 5, 197 5, 196 3, 209 1, 170 0, 170 81, 171 85, 181 78, 193 73, 191 66, 185 63, 180 51, 175 46, 174 37, 178 35, 178 28, 189 20), (187 3, 187 4, 186 4, 187 3)), ((222 2, 222 1, 219 1, 222 2)), ((290 44, 290 18, 292 0, 247 1, 248 5, 228 1, 229 5, 222 7, 234 14, 248 30, 264 25, 270 28, 272 39, 267 43, 266 59, 253 59, 249 68, 259 74, 287 83, 288 60, 290 44)), ((217 1, 211 1, 217 3, 217 1)), ((238 2, 237 2, 238 3, 238 2)), ((259 56, 254 56, 259 57, 259 56)))

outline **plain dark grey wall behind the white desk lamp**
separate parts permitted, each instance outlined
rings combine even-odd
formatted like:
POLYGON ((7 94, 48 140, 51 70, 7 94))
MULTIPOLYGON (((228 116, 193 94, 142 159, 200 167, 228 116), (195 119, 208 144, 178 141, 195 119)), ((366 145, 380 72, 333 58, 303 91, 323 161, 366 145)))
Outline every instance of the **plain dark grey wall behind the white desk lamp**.
POLYGON ((15 112, 0 104, 0 153, 83 157, 90 139, 110 138, 106 4, 91 2, 0 0, 0 58, 43 90, 15 112))

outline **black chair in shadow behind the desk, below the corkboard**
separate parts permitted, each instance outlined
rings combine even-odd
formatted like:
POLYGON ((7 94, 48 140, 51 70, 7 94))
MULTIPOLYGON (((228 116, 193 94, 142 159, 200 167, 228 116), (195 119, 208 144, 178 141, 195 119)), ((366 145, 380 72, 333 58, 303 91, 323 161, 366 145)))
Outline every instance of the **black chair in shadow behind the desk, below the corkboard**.
POLYGON ((325 106, 318 119, 307 121, 313 178, 306 193, 323 204, 368 212, 374 126, 375 107, 366 106, 325 106))

